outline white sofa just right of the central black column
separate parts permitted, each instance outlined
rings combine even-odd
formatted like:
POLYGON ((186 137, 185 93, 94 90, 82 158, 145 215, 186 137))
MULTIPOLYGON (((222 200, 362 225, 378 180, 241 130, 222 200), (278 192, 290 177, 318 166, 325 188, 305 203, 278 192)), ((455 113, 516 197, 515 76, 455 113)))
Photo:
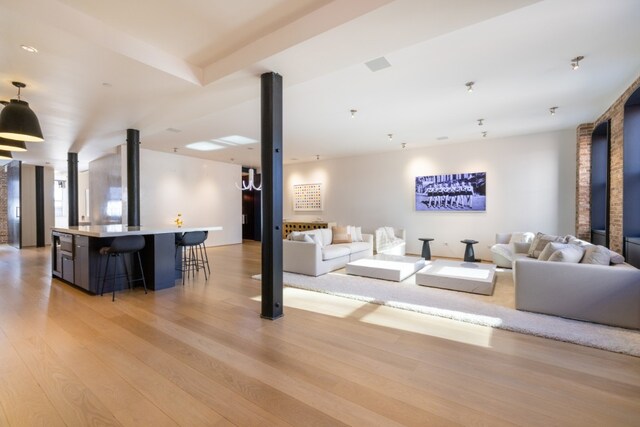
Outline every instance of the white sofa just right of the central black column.
POLYGON ((313 241, 284 240, 282 242, 284 271, 320 276, 343 268, 351 261, 373 256, 372 234, 362 234, 361 242, 337 244, 332 244, 331 228, 309 230, 302 234, 312 236, 313 241))

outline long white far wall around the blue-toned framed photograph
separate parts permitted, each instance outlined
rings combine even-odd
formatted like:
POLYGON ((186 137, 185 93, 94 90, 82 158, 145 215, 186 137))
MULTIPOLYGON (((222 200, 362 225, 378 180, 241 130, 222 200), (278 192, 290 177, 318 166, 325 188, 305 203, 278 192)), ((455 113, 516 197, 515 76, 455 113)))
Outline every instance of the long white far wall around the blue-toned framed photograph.
POLYGON ((490 259, 496 232, 575 230, 575 131, 478 140, 422 149, 316 161, 284 168, 284 218, 336 221, 372 231, 407 230, 407 252, 433 237, 434 255, 461 258, 462 239, 480 241, 476 256, 490 259), (418 212, 415 177, 487 173, 486 212, 418 212), (294 212, 293 186, 323 184, 322 212, 294 212))

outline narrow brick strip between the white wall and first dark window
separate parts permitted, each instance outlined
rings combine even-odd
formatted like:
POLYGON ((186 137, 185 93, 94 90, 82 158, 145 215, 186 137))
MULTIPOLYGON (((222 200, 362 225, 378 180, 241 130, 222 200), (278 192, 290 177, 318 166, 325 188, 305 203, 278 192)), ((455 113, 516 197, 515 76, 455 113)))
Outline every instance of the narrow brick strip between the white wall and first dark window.
POLYGON ((591 132, 593 123, 577 129, 576 237, 591 240, 591 132))

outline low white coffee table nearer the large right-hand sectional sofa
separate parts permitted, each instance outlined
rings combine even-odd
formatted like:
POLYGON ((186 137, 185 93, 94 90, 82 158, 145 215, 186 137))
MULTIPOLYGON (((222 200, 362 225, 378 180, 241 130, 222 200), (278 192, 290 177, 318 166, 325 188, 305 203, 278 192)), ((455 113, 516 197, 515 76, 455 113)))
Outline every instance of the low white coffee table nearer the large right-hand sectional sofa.
POLYGON ((416 273, 416 284, 493 295, 496 265, 438 259, 416 273))

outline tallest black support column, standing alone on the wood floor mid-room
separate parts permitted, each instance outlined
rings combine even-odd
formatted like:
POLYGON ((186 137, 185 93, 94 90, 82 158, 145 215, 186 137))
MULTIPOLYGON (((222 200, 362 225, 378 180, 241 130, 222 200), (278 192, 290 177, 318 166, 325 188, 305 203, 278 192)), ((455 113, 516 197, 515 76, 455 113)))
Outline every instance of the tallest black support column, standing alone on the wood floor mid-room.
POLYGON ((261 76, 262 313, 282 316, 282 76, 261 76))

